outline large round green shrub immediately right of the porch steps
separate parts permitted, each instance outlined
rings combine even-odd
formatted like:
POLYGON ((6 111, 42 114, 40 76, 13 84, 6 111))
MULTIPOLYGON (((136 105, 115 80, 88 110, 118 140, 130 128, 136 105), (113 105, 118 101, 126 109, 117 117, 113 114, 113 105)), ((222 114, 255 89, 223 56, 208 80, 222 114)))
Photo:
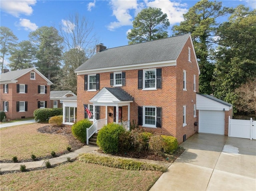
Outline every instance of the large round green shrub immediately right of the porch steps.
POLYGON ((97 145, 104 153, 118 152, 118 137, 122 132, 126 131, 121 125, 109 123, 105 125, 97 136, 97 145))

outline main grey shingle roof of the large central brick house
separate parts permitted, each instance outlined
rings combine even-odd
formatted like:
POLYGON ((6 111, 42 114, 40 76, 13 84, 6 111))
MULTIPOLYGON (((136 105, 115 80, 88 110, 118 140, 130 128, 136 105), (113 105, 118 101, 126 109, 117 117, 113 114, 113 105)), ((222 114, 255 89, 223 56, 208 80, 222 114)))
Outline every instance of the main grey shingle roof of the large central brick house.
POLYGON ((75 71, 177 59, 190 34, 105 49, 75 71))

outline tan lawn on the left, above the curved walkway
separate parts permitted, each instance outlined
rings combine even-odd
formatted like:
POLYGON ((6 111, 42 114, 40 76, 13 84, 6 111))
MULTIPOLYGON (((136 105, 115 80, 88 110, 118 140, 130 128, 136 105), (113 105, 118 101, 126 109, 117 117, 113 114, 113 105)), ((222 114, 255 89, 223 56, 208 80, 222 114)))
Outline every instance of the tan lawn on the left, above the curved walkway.
POLYGON ((69 140, 64 135, 46 134, 38 132, 48 124, 27 124, 0 129, 0 160, 11 162, 14 156, 19 161, 32 161, 31 155, 34 154, 38 159, 46 156, 49 158, 51 152, 57 155, 67 152, 69 140))

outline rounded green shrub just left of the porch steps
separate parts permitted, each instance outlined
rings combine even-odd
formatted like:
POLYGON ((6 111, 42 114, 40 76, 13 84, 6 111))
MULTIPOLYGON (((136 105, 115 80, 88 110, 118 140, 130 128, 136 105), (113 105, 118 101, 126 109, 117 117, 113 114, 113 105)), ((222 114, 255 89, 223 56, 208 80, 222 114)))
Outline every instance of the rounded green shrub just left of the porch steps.
POLYGON ((92 122, 90 122, 87 118, 76 122, 71 127, 73 136, 82 143, 86 143, 86 128, 89 128, 91 125, 92 122))

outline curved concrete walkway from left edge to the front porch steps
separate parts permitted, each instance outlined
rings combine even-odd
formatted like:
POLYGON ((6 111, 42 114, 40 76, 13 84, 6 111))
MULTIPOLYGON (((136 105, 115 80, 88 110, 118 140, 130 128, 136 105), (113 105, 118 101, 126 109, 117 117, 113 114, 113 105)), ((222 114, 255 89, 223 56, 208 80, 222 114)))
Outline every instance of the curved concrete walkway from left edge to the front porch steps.
POLYGON ((79 154, 90 153, 90 152, 93 152, 94 150, 98 150, 98 147, 92 146, 92 145, 86 145, 74 152, 70 152, 68 154, 65 154, 65 155, 62 155, 62 156, 59 156, 56 158, 51 158, 51 159, 46 159, 46 160, 41 160, 41 161, 21 162, 21 163, 0 163, 0 169, 2 172, 10 171, 10 170, 19 170, 20 165, 26 165, 26 169, 38 168, 38 167, 45 166, 46 161, 49 161, 52 165, 54 165, 54 164, 58 164, 58 163, 67 161, 68 157, 70 157, 70 159, 74 159, 79 154))

